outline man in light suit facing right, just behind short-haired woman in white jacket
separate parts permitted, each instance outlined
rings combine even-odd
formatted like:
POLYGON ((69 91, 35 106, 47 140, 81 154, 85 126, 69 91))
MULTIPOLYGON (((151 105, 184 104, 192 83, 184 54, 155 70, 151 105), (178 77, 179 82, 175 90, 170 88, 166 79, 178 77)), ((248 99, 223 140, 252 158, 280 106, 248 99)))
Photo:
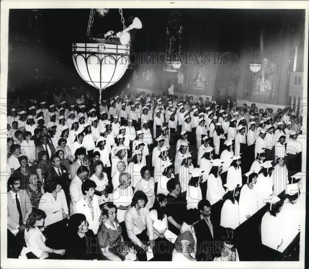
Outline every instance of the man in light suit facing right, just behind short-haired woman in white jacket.
POLYGON ((79 166, 75 177, 70 183, 70 215, 76 213, 76 203, 82 198, 82 183, 87 179, 89 170, 86 166, 79 166))

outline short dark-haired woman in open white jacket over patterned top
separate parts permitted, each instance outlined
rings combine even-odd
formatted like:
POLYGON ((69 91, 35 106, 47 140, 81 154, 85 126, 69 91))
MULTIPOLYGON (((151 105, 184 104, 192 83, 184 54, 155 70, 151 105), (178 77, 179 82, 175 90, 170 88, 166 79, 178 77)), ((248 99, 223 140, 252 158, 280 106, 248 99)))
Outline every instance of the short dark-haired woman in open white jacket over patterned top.
POLYGON ((99 219, 101 210, 99 207, 99 196, 95 195, 96 184, 91 179, 87 179, 82 184, 83 196, 76 202, 76 213, 82 213, 86 216, 89 223, 88 228, 96 235, 99 229, 99 219))

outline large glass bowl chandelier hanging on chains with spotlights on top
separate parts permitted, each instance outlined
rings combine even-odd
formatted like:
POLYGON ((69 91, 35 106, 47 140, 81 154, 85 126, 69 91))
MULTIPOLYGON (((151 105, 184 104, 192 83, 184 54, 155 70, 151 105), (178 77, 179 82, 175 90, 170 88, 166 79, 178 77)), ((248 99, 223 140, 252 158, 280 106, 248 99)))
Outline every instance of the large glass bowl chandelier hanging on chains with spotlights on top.
MULTIPOLYGON (((93 37, 91 28, 95 11, 95 9, 90 11, 87 38, 72 43, 72 57, 77 73, 85 82, 99 90, 99 101, 101 101, 102 91, 115 84, 125 74, 130 57, 130 34, 128 32, 134 28, 142 28, 142 23, 138 18, 134 18, 132 24, 125 27, 120 8, 123 31, 116 33, 111 30, 104 35, 99 34, 93 37)), ((102 11, 97 11, 102 16, 102 11)))

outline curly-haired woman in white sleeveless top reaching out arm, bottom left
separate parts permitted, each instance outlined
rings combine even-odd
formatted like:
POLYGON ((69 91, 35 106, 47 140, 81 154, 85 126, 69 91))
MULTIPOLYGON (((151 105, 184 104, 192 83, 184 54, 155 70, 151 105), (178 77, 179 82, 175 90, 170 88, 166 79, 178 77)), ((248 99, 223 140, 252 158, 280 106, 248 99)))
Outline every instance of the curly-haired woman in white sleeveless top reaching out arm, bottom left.
POLYGON ((44 231, 44 219, 46 214, 40 209, 33 208, 26 221, 26 229, 24 239, 28 248, 33 250, 42 250, 40 259, 46 259, 49 256, 49 253, 60 254, 61 256, 65 254, 66 250, 64 249, 52 249, 45 245, 45 236, 42 231, 44 231))

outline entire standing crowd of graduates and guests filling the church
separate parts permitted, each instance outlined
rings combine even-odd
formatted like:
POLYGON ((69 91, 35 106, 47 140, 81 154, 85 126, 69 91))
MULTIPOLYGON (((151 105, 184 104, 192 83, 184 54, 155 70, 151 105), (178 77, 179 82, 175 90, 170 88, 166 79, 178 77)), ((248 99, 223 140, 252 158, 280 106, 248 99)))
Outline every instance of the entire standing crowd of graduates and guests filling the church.
POLYGON ((262 244, 299 230, 291 108, 76 88, 21 103, 7 116, 8 257, 239 261, 235 229, 265 205, 262 244))

